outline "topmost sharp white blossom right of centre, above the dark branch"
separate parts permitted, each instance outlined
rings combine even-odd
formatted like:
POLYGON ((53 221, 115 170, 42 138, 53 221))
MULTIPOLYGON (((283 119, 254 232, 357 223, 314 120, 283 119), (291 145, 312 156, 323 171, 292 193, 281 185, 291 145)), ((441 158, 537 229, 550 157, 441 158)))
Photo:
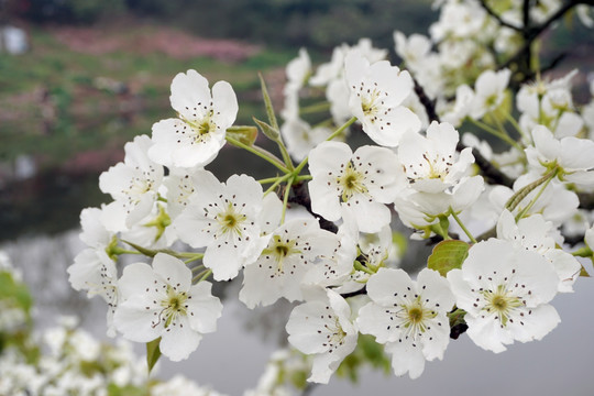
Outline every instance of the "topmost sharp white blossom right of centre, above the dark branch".
POLYGON ((361 53, 352 52, 344 61, 344 74, 351 90, 352 114, 375 143, 394 147, 405 132, 419 131, 419 118, 402 106, 413 92, 408 72, 387 61, 370 64, 361 53))

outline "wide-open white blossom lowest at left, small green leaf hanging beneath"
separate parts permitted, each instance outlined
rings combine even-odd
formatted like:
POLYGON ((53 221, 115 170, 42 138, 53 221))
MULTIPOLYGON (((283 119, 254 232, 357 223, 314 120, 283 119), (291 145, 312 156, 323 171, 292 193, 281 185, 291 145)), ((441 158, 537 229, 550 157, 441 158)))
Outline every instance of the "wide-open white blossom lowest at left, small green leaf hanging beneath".
POLYGON ((128 340, 150 342, 161 337, 161 352, 172 361, 187 359, 202 334, 217 329, 222 305, 211 284, 191 285, 191 271, 178 258, 157 253, 153 265, 128 265, 119 280, 122 301, 114 315, 128 340))

